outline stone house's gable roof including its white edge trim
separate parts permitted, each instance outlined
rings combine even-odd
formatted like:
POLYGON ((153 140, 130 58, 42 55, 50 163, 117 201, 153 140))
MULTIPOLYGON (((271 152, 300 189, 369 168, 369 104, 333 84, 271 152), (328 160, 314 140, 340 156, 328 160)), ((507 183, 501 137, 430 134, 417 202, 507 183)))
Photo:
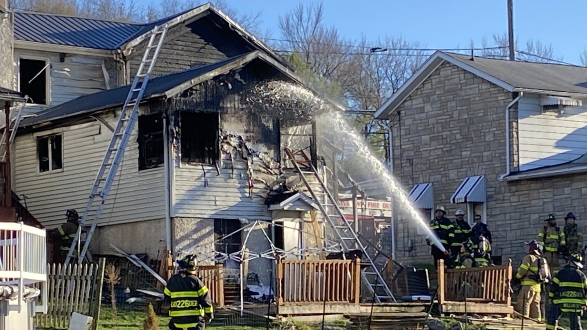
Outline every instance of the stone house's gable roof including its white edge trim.
POLYGON ((481 77, 508 92, 532 92, 558 96, 587 96, 587 68, 582 66, 534 63, 475 57, 441 52, 430 56, 397 92, 375 112, 386 119, 442 63, 448 62, 481 77))

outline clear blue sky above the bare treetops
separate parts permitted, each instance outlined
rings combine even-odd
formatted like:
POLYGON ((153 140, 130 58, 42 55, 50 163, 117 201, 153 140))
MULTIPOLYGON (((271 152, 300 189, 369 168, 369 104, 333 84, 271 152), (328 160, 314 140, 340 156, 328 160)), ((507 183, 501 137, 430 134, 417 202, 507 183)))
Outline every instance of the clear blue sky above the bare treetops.
MULTIPOLYGON (((261 11, 261 29, 279 38, 278 16, 312 1, 227 0, 239 12, 261 11)), ((401 35, 427 48, 466 47, 472 38, 507 31, 506 0, 324 0, 325 22, 341 35, 376 39, 401 35)), ((578 63, 587 48, 587 0, 514 0, 514 28, 520 45, 527 39, 552 43, 556 56, 578 63)), ((374 45, 379 46, 379 45, 374 45)), ((384 46, 384 45, 382 45, 384 46)))

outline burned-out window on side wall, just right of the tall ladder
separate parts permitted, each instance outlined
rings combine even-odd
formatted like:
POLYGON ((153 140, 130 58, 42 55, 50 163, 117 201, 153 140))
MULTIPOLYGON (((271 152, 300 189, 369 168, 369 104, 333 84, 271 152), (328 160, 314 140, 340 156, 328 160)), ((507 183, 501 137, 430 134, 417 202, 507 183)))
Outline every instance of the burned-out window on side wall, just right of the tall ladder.
POLYGON ((163 117, 161 113, 139 116, 139 171, 163 164, 163 117))

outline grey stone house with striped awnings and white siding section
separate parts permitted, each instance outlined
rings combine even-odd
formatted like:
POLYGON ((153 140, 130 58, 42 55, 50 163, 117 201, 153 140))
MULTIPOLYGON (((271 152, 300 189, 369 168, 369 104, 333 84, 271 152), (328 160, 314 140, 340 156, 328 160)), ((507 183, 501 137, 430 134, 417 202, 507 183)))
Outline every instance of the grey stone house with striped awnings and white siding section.
MULTIPOLYGON (((549 213, 587 229, 587 68, 436 52, 375 116, 422 217, 481 214, 497 259, 521 260, 549 213)), ((431 261, 413 217, 396 233, 400 259, 431 261)))

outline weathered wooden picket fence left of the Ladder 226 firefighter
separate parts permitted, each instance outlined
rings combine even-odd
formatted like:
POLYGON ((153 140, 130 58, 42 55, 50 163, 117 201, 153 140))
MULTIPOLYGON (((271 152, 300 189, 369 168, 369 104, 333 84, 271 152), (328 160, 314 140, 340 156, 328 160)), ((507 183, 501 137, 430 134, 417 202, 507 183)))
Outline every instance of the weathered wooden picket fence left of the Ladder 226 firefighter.
POLYGON ((72 312, 99 314, 104 261, 99 264, 47 265, 47 314, 35 315, 35 326, 67 329, 72 312))

